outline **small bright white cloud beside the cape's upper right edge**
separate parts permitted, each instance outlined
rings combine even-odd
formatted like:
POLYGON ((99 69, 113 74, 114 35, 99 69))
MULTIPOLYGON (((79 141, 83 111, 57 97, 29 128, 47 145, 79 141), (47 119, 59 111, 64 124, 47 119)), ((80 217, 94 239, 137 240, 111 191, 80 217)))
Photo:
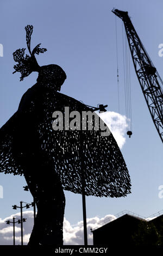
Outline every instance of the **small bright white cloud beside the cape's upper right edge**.
MULTIPOLYGON (((97 113, 99 114, 99 113, 97 113)), ((109 127, 120 149, 126 142, 127 117, 113 111, 99 114, 101 119, 109 127)))

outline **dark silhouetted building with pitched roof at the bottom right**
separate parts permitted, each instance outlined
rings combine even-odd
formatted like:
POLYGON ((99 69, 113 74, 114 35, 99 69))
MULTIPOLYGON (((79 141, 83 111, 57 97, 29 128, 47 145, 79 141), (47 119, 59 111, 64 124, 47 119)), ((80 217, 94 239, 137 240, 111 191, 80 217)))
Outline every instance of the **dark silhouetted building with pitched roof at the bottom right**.
MULTIPOLYGON (((163 215, 151 221, 146 221, 143 218, 125 214, 100 228, 92 230, 93 245, 135 246, 135 235, 141 236, 143 233, 146 233, 148 223, 153 223, 156 230, 161 232, 163 215)), ((157 233, 157 231, 155 232, 157 233)))

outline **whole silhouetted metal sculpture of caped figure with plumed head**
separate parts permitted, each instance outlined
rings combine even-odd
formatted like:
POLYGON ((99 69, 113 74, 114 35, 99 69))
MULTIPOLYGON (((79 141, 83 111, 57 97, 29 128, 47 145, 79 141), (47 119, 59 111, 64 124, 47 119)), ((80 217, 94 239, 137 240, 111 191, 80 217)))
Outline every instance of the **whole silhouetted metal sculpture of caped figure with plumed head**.
POLYGON ((83 103, 58 93, 66 79, 58 65, 39 66, 30 51, 33 26, 26 29, 27 46, 13 53, 15 72, 21 80, 39 72, 37 83, 22 96, 18 110, 1 127, 0 171, 24 175, 36 205, 37 216, 29 245, 62 245, 65 210, 64 191, 97 197, 124 197, 130 193, 130 177, 117 143, 101 130, 79 131, 52 129, 54 111, 90 111, 83 103), (82 145, 81 145, 82 136, 82 145))

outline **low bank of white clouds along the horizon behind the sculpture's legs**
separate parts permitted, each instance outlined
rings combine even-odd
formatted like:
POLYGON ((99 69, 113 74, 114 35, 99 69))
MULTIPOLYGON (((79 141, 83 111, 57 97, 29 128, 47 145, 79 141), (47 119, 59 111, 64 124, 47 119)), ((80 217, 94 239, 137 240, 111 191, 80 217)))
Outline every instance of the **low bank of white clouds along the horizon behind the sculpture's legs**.
MULTIPOLYGON (((12 218, 20 218, 20 212, 15 215, 11 215, 10 217, 5 218, 4 220, 0 219, 0 245, 12 245, 13 243, 13 227, 12 224, 8 225, 5 221, 10 220, 12 218)), ((30 233, 33 228, 33 211, 24 211, 23 218, 27 218, 27 222, 23 223, 23 243, 27 245, 30 237, 30 233)), ((104 218, 93 217, 87 218, 87 239, 88 245, 93 244, 93 235, 90 229, 98 228, 104 225, 104 223, 108 223, 110 221, 115 220, 116 217, 114 215, 106 215, 104 218)), ((16 245, 21 244, 21 228, 20 224, 16 223, 15 227, 15 241, 16 245)), ((83 221, 79 221, 77 224, 71 225, 69 221, 64 218, 64 245, 84 245, 84 236, 83 236, 83 221)))

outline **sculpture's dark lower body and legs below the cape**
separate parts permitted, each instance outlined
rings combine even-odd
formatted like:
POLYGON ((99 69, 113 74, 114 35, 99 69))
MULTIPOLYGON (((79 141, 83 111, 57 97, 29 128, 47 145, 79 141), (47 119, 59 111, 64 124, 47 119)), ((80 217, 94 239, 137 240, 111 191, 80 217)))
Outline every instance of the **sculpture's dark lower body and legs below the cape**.
POLYGON ((63 245, 65 195, 58 175, 51 165, 37 162, 24 172, 24 177, 37 205, 28 245, 63 245))

